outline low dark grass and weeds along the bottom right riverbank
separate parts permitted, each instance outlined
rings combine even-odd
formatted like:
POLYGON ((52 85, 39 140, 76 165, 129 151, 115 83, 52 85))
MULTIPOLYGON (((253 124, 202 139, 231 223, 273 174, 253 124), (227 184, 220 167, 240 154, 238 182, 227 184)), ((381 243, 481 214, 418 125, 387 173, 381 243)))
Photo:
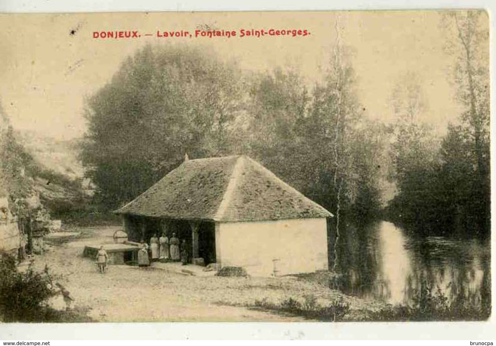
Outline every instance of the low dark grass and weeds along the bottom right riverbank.
MULTIPOLYGON (((335 275, 330 272, 317 272, 296 275, 299 282, 316 283, 321 287, 332 285, 330 279, 335 275)), ((267 284, 265 289, 278 289, 267 284)), ((279 287, 280 288, 280 287, 279 287)), ((307 290, 309 291, 309 290, 307 290)), ((331 291, 338 292, 331 289, 331 291)), ((280 293, 280 292, 279 292, 280 293)), ((280 299, 265 296, 255 298, 244 304, 250 309, 268 311, 284 316, 298 316, 318 321, 481 321, 489 318, 491 307, 472 303, 467 299, 450 302, 443 292, 424 282, 421 288, 414 290, 414 297, 409 305, 392 305, 384 302, 353 300, 353 297, 340 292, 332 297, 314 294, 299 294, 291 290, 291 295, 281 295, 280 299), (362 305, 360 307, 360 305, 362 305)), ((218 304, 233 305, 233 302, 221 300, 218 304)), ((487 304, 486 304, 487 305, 487 304)))

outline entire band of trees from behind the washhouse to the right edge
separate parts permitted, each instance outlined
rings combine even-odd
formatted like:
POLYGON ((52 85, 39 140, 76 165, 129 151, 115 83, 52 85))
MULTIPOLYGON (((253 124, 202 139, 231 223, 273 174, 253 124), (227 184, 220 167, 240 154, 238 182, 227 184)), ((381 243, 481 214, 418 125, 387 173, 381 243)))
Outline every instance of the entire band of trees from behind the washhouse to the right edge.
POLYGON ((339 216, 387 212, 423 233, 489 232, 488 37, 479 12, 445 17, 450 80, 461 113, 443 138, 422 123, 422 83, 408 72, 392 90, 396 121, 364 116, 352 58, 334 48, 320 82, 296 70, 242 72, 212 52, 146 46, 88 99, 82 160, 111 210, 190 158, 247 154, 339 216))

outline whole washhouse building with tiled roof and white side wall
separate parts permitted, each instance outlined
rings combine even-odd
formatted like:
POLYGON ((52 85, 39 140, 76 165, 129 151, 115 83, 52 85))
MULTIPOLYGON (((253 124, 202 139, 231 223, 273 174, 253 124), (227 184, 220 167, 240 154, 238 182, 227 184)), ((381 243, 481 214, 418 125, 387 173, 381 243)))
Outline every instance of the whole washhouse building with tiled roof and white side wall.
POLYGON ((254 276, 328 267, 332 214, 247 156, 186 160, 116 213, 130 240, 186 239, 193 263, 254 276))

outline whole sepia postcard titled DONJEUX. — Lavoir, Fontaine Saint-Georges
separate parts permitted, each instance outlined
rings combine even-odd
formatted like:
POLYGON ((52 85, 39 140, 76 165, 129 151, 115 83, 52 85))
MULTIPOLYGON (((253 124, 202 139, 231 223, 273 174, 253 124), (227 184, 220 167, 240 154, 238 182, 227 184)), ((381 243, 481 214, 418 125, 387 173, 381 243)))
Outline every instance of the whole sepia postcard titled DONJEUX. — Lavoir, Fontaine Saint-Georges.
POLYGON ((0 14, 0 321, 488 320, 489 28, 0 14))

